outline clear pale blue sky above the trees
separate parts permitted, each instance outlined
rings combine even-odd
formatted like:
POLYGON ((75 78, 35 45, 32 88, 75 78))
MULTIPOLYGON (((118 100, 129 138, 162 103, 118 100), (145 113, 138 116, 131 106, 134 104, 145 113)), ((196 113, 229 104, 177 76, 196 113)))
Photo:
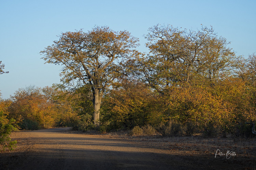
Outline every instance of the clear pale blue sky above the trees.
POLYGON ((8 74, 0 75, 3 99, 19 88, 60 83, 61 66, 44 64, 40 51, 62 32, 95 26, 127 30, 143 37, 156 24, 197 30, 212 26, 230 48, 245 58, 256 52, 255 0, 0 0, 0 61, 8 74))

